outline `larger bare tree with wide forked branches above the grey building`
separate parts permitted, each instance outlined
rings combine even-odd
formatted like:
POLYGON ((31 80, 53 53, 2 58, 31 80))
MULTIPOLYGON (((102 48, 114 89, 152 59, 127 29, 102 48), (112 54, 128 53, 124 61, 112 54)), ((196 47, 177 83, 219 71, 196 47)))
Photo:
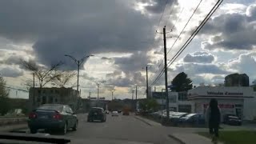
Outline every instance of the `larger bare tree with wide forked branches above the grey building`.
POLYGON ((38 66, 33 61, 22 61, 22 66, 34 73, 35 77, 38 78, 38 83, 41 88, 61 76, 61 73, 58 72, 57 69, 59 66, 62 66, 62 62, 58 62, 48 69, 45 66, 38 66))

